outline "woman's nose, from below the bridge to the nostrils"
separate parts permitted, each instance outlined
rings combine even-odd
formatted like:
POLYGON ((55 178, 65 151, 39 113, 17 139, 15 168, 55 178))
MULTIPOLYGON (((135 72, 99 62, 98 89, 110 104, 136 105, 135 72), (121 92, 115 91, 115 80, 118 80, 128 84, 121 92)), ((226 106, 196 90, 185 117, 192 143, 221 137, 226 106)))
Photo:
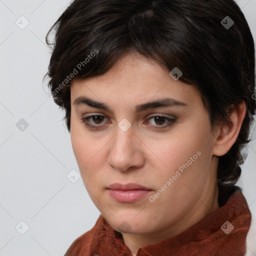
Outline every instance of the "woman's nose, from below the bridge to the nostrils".
POLYGON ((108 155, 108 164, 120 171, 139 168, 144 164, 143 143, 136 136, 132 126, 123 131, 117 126, 108 155))

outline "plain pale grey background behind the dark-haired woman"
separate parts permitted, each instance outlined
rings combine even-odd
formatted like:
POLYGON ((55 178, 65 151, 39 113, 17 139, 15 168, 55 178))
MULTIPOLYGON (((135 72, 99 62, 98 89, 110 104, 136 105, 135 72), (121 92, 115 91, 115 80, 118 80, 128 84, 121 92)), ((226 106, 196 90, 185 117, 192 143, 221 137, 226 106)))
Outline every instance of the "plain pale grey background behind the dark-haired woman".
MULTIPOLYGON (((236 2, 255 40, 256 0, 236 2)), ((64 255, 100 214, 79 177, 63 112, 47 99, 49 91, 42 82, 50 57, 44 37, 68 4, 68 0, 0 0, 0 256, 64 255)), ((246 253, 252 256, 256 255, 255 141, 249 146, 238 185, 252 213, 246 253)))

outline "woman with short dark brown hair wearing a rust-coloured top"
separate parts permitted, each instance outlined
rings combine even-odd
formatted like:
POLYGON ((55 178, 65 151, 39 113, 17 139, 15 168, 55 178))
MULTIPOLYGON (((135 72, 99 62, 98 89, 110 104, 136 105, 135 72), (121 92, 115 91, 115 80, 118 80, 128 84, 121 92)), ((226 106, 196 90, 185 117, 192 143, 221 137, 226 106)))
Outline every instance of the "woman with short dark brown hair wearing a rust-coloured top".
POLYGON ((244 255, 255 74, 236 3, 74 0, 53 29, 48 85, 101 213, 65 256, 244 255))

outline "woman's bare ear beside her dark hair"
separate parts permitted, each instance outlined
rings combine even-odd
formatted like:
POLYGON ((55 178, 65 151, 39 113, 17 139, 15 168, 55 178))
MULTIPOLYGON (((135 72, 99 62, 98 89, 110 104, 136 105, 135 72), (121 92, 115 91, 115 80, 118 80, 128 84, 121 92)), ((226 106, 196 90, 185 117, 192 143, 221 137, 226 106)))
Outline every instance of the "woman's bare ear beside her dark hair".
POLYGON ((216 139, 212 149, 213 155, 221 156, 228 152, 236 141, 245 114, 246 105, 244 101, 233 106, 229 115, 231 123, 222 123, 217 128, 216 139))

